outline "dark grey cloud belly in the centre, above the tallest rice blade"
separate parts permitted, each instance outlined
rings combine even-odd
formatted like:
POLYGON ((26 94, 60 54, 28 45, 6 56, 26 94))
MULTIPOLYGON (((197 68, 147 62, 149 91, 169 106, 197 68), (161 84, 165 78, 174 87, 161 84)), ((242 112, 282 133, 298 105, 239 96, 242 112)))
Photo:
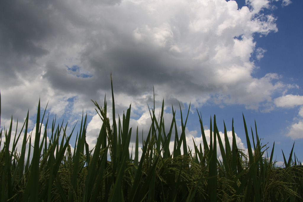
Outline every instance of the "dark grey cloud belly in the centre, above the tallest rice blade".
MULTIPOLYGON (((106 37, 99 36, 99 40, 106 41, 106 37)), ((112 47, 109 44, 105 50, 100 46, 90 46, 82 53, 84 64, 94 68, 94 77, 102 78, 99 79, 100 87, 108 82, 103 79, 104 72, 112 72, 116 91, 133 96, 150 91, 153 85, 175 88, 171 91, 175 94, 214 90, 215 87, 201 85, 203 82, 201 84, 192 82, 188 67, 200 68, 201 71, 204 69, 198 67, 198 64, 191 61, 187 55, 180 53, 181 57, 177 58, 167 48, 159 49, 148 43, 136 44, 129 36, 125 36, 121 41, 123 43, 112 47)), ((205 72, 207 71, 209 69, 205 68, 205 72)), ((201 81, 206 79, 207 76, 201 77, 201 81)))

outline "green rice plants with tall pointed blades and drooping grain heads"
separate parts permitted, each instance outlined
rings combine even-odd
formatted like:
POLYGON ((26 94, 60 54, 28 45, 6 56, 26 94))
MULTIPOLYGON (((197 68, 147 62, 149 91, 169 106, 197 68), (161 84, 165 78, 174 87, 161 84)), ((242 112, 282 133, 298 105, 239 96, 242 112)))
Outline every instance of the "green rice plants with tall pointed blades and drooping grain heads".
MULTIPOLYGON (((103 107, 93 101, 103 121, 94 148, 86 142, 87 116, 79 131, 66 134, 67 125, 40 117, 36 130, 28 135, 28 114, 20 133, 12 121, 0 132, 0 200, 1 201, 302 201, 303 168, 293 154, 285 156, 285 167, 276 167, 274 145, 262 145, 257 127, 248 130, 243 116, 248 154, 233 141, 221 139, 216 117, 210 120, 210 144, 206 141, 201 114, 202 144, 190 150, 186 142, 187 116, 181 112, 181 134, 173 118, 164 127, 164 101, 159 116, 150 109, 152 124, 142 142, 136 131, 135 155, 129 152, 132 128, 129 127, 131 105, 118 122, 112 88, 112 121, 103 107), (42 124, 51 130, 42 131, 42 124), (112 124, 110 124, 112 123, 112 124), (249 132, 248 132, 249 131, 249 132), (16 145, 24 135, 21 152, 16 145), (71 136, 76 142, 70 142, 71 136), (169 143, 174 141, 171 150, 169 143), (222 159, 218 159, 217 142, 222 159), (72 151, 71 145, 74 150, 72 151), (11 148, 11 149, 10 149, 11 148), (203 148, 203 149, 202 149, 203 148), (108 154, 110 158, 108 158, 108 154)), ((1 105, 1 97, 0 97, 1 105)), ((180 107, 181 111, 181 107, 180 107)), ((0 107, 1 114, 1 107, 0 107)))

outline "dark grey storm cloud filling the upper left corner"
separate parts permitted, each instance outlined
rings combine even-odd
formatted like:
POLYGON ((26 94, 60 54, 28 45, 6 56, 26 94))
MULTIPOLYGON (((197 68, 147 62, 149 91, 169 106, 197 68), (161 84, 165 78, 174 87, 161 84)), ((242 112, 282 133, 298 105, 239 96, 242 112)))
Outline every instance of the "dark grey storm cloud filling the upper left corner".
POLYGON ((0 68, 15 78, 43 65, 37 60, 53 51, 48 43, 72 40, 68 29, 87 25, 63 1, 1 1, 0 13, 0 68))

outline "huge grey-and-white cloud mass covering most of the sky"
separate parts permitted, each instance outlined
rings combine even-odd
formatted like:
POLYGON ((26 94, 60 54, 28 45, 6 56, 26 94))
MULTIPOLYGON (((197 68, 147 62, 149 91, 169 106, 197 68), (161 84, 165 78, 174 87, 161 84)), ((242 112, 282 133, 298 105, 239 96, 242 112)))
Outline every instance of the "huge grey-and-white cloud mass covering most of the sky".
MULTIPOLYGON (((283 1, 288 4, 289 1, 283 1)), ((2 1, 0 88, 3 122, 35 114, 38 98, 70 123, 110 93, 137 118, 153 97, 201 106, 258 110, 289 88, 276 74, 252 76, 263 49, 255 37, 277 31, 267 0, 2 1), (169 92, 169 93, 168 93, 169 92), (76 114, 76 115, 72 115, 76 114)), ((137 121, 137 118, 134 120, 137 121)), ((139 123, 139 122, 137 122, 139 123)))

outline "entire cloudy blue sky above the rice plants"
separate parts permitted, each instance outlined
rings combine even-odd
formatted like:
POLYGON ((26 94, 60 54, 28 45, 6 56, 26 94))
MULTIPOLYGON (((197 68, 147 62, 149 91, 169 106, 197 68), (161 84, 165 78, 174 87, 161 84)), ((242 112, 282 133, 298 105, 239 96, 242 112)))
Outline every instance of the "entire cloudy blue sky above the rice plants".
POLYGON ((111 106, 112 73, 117 115, 131 104, 133 131, 146 136, 154 89, 168 125, 172 105, 180 126, 179 104, 183 116, 191 104, 190 147, 201 143, 198 111, 206 131, 216 115, 230 134, 234 119, 247 149, 243 113, 270 151, 275 142, 278 165, 294 143, 302 162, 302 8, 301 0, 1 1, 1 127, 29 110, 33 128, 40 98, 69 130, 87 113, 92 148, 102 122, 91 100, 106 95, 111 106))

